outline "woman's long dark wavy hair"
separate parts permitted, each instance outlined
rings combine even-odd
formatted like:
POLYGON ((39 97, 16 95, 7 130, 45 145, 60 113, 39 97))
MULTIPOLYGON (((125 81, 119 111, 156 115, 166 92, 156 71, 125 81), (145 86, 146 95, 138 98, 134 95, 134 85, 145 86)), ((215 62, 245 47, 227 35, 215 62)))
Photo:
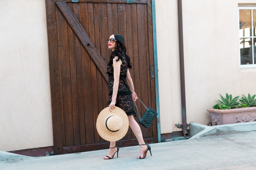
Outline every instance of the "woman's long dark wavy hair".
POLYGON ((125 43, 124 43, 124 37, 120 34, 112 34, 115 36, 115 40, 117 40, 115 42, 115 50, 112 51, 110 57, 109 57, 109 62, 108 62, 108 66, 112 66, 113 64, 113 59, 115 58, 115 56, 117 56, 117 62, 119 61, 121 56, 124 56, 126 58, 126 61, 128 63, 128 68, 132 68, 132 64, 130 63, 130 57, 126 54, 126 47, 125 47, 125 43))

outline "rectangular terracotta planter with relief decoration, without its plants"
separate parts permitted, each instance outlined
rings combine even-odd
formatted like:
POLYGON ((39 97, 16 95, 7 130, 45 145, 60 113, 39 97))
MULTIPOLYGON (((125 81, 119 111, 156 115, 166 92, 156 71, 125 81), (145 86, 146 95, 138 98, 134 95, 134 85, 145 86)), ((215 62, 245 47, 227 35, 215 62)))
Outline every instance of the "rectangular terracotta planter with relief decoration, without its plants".
POLYGON ((228 110, 208 108, 207 111, 210 113, 213 126, 256 121, 256 107, 228 110))

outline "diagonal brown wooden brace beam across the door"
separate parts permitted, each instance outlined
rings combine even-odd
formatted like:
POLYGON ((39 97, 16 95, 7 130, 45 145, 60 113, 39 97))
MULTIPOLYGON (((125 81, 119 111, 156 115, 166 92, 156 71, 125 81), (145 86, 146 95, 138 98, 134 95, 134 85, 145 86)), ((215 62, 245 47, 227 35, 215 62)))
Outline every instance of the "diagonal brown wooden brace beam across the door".
POLYGON ((91 58, 99 68, 100 72, 102 73, 103 77, 108 81, 108 76, 106 74, 106 63, 102 60, 102 57, 98 53, 97 49, 91 42, 90 38, 87 36, 85 30, 82 28, 79 21, 76 19, 74 13, 70 10, 70 8, 67 6, 66 2, 55 2, 65 18, 67 19, 68 23, 80 39, 82 45, 85 47, 85 49, 90 54, 91 58))

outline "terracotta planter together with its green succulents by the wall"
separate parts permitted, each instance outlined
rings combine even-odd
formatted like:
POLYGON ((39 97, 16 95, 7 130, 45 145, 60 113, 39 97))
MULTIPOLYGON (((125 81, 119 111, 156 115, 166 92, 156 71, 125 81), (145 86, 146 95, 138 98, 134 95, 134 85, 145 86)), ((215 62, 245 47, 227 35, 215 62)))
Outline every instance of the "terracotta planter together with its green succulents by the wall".
POLYGON ((232 95, 226 93, 226 98, 220 97, 221 100, 217 100, 213 108, 207 109, 213 125, 256 121, 256 95, 232 98, 232 95))

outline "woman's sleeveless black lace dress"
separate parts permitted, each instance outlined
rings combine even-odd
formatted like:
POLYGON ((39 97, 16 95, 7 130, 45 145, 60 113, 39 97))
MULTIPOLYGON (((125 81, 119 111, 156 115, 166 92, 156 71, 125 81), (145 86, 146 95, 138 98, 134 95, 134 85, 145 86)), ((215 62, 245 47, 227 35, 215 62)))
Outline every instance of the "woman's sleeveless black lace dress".
MULTIPOLYGON (((128 70, 128 63, 124 56, 120 57, 122 64, 120 68, 120 75, 119 75, 119 85, 117 91, 117 99, 115 106, 124 110, 127 116, 135 115, 135 111, 132 104, 132 92, 128 84, 126 83, 126 74, 128 70)), ((108 74, 108 103, 107 107, 111 103, 112 94, 113 94, 113 85, 114 85, 114 68, 113 66, 107 66, 107 74, 108 74)))

